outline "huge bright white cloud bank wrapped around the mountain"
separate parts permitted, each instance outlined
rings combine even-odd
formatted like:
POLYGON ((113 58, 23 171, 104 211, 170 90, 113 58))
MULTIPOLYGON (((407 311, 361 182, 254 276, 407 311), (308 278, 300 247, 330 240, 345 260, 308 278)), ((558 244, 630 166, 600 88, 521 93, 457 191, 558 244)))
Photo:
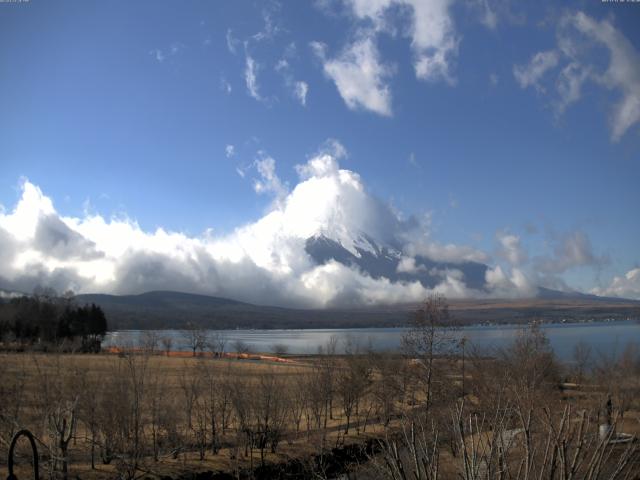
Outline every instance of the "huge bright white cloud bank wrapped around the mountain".
MULTIPOLYGON (((388 252, 398 248, 404 251, 398 259, 413 258, 400 270, 410 269, 415 255, 450 262, 486 258, 469 247, 421 240, 419 222, 403 219, 372 196, 356 172, 340 166, 346 155, 339 142, 327 141, 297 166, 299 181, 289 189, 276 174, 275 160, 262 154, 254 188, 278 201, 258 220, 221 236, 145 231, 126 216, 89 211, 65 217, 25 181, 15 207, 0 213, 0 287, 118 294, 172 289, 306 307, 419 301, 434 291, 486 295, 470 289, 451 265, 435 272, 435 283, 427 287, 406 275, 389 279, 336 261, 316 263, 305 245, 319 235, 353 254, 367 241, 386 245, 388 252)), ((413 268, 420 270, 415 263, 413 268)))

